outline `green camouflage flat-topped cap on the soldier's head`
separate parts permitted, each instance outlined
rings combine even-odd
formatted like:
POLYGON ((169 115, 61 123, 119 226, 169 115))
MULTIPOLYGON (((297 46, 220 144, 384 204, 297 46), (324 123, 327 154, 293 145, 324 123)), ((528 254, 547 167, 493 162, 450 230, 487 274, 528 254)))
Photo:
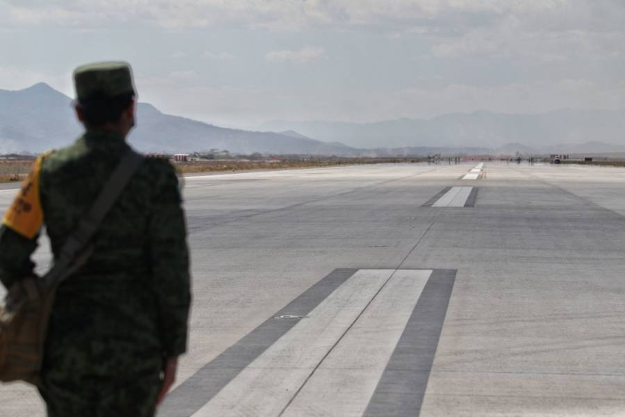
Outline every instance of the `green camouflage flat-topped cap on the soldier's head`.
POLYGON ((93 95, 117 97, 122 94, 135 94, 131 67, 124 62, 82 65, 74 70, 74 87, 78 101, 93 95))

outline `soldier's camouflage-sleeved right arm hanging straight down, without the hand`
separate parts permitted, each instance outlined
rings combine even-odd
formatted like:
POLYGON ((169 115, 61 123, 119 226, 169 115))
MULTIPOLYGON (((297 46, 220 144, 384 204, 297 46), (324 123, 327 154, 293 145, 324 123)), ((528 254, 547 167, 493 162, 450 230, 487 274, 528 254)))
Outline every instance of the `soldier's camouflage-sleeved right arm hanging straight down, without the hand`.
POLYGON ((164 354, 177 357, 187 348, 191 302, 187 230, 176 173, 167 161, 158 163, 149 222, 151 269, 164 354))

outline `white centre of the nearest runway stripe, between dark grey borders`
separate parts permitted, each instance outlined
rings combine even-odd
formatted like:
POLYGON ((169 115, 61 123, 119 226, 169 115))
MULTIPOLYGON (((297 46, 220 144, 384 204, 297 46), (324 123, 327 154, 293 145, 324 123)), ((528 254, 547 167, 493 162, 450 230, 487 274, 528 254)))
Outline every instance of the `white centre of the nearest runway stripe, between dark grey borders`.
POLYGON ((306 398, 312 395, 315 402, 334 402, 340 410, 324 415, 350 416, 340 409, 345 395, 349 407, 360 410, 353 415, 360 416, 431 274, 430 270, 398 271, 380 291, 393 272, 356 272, 193 416, 278 416, 317 367, 319 373, 308 379, 310 386, 303 387, 302 398, 290 404, 286 415, 308 415, 297 410, 311 406, 306 398), (359 355, 363 361, 358 365, 359 355), (333 372, 342 363, 360 370, 333 372), (337 388, 340 375, 344 375, 341 390, 324 386, 337 388), (320 386, 324 386, 321 391, 320 386))

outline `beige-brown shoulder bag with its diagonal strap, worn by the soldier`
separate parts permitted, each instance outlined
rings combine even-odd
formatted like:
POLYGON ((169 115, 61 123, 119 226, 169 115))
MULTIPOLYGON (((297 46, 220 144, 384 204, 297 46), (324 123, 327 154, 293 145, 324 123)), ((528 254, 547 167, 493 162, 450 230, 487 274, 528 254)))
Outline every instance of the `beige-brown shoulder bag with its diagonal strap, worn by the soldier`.
POLYGON ((122 158, 44 277, 24 277, 9 289, 4 306, 0 306, 1 382, 38 384, 56 288, 87 261, 92 252, 89 241, 141 161, 143 156, 132 151, 122 158))

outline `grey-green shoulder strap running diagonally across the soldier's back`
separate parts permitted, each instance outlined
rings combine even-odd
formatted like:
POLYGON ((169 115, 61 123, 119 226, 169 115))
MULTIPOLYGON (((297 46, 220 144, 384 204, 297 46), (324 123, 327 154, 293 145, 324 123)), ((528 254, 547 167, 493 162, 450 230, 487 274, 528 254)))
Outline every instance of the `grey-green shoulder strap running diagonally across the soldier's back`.
POLYGON ((142 155, 133 150, 122 158, 89 211, 83 215, 74 232, 65 240, 54 266, 42 278, 44 289, 60 284, 67 277, 72 263, 78 254, 85 249, 89 240, 100 227, 106 213, 122 194, 143 159, 142 155))

